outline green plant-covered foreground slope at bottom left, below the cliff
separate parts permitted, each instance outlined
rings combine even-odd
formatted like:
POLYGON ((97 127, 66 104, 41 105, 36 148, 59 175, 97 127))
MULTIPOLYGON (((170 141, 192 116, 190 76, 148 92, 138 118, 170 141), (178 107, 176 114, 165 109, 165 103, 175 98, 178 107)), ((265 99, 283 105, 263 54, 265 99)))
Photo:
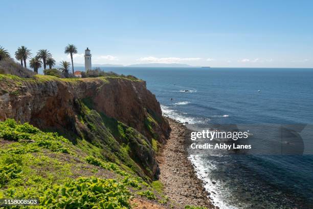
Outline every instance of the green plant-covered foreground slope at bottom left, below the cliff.
POLYGON ((133 196, 167 202, 142 178, 57 133, 7 119, 0 138, 0 198, 38 199, 48 208, 130 208, 133 196))

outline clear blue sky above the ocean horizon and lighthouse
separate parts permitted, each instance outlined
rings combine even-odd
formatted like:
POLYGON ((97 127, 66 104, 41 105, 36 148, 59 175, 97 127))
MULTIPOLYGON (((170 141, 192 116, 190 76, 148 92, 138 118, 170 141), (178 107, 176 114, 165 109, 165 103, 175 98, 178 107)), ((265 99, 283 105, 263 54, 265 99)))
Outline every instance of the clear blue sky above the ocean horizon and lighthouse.
POLYGON ((313 1, 2 1, 0 45, 83 63, 313 67, 313 1))

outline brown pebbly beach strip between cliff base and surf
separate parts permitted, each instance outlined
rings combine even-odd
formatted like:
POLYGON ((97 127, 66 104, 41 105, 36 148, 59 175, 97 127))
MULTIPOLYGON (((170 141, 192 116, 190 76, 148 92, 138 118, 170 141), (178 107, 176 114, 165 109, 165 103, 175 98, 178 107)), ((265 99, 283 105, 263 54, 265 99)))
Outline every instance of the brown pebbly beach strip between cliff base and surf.
POLYGON ((164 184, 164 193, 178 204, 215 207, 205 190, 203 182, 197 178, 188 159, 185 148, 186 127, 167 118, 171 133, 158 156, 161 174, 159 180, 164 184))

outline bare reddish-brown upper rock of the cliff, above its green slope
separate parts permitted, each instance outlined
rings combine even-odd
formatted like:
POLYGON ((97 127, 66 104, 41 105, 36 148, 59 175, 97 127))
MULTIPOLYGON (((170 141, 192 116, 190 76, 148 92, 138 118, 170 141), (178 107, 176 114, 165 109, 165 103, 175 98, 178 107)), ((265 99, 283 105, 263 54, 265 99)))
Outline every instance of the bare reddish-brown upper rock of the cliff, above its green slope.
POLYGON ((159 119, 155 132, 164 142, 168 122, 160 104, 146 88, 145 81, 126 78, 85 78, 75 81, 0 81, 0 120, 14 118, 39 128, 74 129, 75 99, 90 98, 95 109, 124 122, 149 137, 144 124, 147 112, 159 119))

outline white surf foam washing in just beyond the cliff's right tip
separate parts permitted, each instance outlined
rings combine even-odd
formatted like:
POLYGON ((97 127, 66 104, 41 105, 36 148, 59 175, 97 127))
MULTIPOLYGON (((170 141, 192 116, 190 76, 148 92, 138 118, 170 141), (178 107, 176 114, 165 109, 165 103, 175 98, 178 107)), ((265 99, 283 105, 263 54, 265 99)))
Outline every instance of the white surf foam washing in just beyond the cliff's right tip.
POLYGON ((164 116, 170 117, 174 120, 178 120, 182 123, 188 122, 189 124, 203 124, 210 120, 208 118, 198 119, 195 117, 188 117, 186 116, 186 114, 180 113, 164 105, 161 105, 161 109, 164 116))

